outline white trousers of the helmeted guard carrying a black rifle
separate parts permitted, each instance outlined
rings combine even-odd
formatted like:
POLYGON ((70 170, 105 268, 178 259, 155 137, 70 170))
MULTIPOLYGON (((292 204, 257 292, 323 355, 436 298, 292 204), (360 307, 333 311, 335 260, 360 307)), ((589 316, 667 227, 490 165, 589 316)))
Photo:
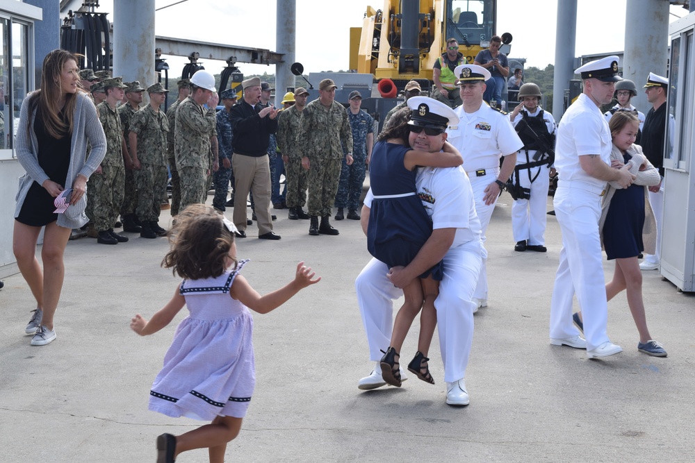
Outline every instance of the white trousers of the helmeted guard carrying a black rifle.
POLYGON ((528 245, 546 244, 546 212, 548 204, 548 166, 521 169, 519 184, 530 188, 530 199, 517 199, 512 203, 512 233, 514 241, 526 240, 528 245), (529 180, 535 177, 533 183, 529 180), (538 175, 536 177, 536 175, 538 175))

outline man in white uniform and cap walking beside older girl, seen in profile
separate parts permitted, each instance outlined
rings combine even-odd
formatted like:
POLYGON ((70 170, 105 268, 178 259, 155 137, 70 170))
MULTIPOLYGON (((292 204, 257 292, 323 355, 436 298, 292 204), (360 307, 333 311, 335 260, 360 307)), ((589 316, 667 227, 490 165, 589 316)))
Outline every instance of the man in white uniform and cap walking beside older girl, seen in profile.
POLYGON ((607 181, 627 188, 635 176, 610 167, 612 147, 600 106, 610 103, 618 76, 618 57, 588 62, 575 71, 584 90, 557 127, 555 168, 559 182, 553 205, 562 231, 562 250, 550 303, 550 344, 586 348, 587 356, 607 357, 623 349, 606 334, 608 306, 603 255, 598 236, 601 196, 607 181), (573 326, 572 299, 577 294, 584 335, 573 326))

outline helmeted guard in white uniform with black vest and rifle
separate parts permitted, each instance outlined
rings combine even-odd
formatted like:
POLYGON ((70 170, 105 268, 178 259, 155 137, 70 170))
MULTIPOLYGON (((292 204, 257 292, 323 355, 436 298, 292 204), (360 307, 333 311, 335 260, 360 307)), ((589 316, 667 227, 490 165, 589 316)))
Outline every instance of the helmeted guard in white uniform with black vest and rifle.
MULTIPOLYGON (((514 129, 524 143, 516 155, 512 188, 516 190, 512 204, 514 251, 546 249, 546 217, 548 186, 555 150, 555 119, 540 106, 541 89, 534 83, 521 85, 521 103, 509 114, 514 129)), ((509 187, 508 187, 509 189, 509 187)), ((512 192, 510 192, 512 193, 512 192)))

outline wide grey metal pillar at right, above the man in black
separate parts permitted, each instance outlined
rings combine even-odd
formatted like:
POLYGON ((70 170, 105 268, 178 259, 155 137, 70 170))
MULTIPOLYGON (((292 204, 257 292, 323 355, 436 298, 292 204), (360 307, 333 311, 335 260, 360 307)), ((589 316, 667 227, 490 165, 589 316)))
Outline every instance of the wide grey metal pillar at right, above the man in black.
POLYGON ((651 109, 642 85, 650 72, 666 76, 669 48, 669 2, 630 0, 625 13, 625 53, 621 62, 623 78, 637 87, 632 106, 641 112, 651 109))

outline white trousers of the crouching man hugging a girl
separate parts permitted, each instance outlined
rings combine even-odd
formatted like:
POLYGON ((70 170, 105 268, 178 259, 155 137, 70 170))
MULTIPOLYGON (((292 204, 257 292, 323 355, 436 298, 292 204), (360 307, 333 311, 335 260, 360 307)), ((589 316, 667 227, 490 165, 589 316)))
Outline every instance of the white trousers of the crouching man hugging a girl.
MULTIPOLYGON (((480 242, 469 242, 450 249, 444 256, 444 278, 439 296, 434 301, 439 330, 439 350, 444 363, 444 380, 454 382, 466 376, 468 356, 473 342, 473 309, 471 301, 484 248, 480 242)), ((393 300, 403 292, 386 277, 389 268, 372 259, 355 280, 357 303, 369 344, 370 360, 382 358, 391 344, 393 300)), ((414 353, 413 353, 414 355, 414 353)), ((402 360, 402 363, 409 360, 402 360)))

